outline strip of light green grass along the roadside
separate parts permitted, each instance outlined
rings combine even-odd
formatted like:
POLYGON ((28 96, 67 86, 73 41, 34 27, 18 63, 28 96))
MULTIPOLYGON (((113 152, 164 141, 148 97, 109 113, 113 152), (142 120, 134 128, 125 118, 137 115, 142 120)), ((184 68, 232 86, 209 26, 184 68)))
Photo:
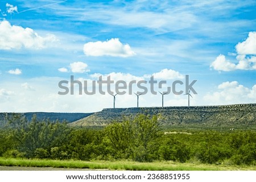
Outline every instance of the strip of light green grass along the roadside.
POLYGON ((0 158, 0 166, 19 167, 54 167, 80 169, 108 169, 134 171, 224 171, 224 170, 256 170, 255 166, 230 166, 201 163, 179 163, 172 161, 141 163, 129 160, 52 160, 52 159, 16 159, 0 158))

